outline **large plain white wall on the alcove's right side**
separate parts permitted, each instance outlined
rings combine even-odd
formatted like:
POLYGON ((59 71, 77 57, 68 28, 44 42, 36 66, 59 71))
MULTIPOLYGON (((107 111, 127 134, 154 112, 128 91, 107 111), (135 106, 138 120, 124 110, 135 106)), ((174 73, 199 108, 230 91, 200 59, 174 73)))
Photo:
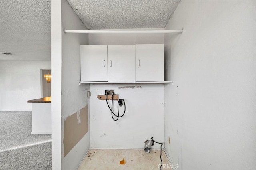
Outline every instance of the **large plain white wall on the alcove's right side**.
POLYGON ((179 169, 255 169, 255 1, 181 1, 165 37, 165 148, 179 169), (171 144, 168 143, 168 136, 171 144))

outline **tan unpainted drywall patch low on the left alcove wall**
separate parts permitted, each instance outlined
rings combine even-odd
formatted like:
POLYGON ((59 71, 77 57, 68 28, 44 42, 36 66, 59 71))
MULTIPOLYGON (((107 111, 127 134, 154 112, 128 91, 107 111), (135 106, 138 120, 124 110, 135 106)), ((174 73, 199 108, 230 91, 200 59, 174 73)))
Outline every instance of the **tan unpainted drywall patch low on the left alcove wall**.
POLYGON ((88 132, 87 105, 64 121, 64 157, 88 132))

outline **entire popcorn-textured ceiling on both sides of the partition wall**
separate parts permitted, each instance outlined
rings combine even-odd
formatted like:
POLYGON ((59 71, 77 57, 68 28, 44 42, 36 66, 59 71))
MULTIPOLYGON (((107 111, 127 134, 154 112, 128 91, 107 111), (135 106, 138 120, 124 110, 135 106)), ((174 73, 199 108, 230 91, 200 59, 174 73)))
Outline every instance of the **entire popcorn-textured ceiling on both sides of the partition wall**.
MULTIPOLYGON (((164 28, 180 0, 68 0, 90 30, 164 28)), ((50 60, 51 1, 0 0, 1 60, 50 60)), ((68 29, 68 28, 66 28, 68 29)))

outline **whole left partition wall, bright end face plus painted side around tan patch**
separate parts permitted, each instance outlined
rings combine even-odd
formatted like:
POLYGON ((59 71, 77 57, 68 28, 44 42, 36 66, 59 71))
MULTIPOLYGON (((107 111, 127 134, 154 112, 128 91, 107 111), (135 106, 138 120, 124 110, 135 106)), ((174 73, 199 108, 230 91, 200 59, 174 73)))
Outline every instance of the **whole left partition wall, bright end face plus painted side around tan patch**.
POLYGON ((86 34, 66 34, 64 28, 86 29, 67 1, 52 1, 52 169, 76 169, 90 149, 89 132, 64 157, 64 120, 88 105, 88 85, 79 86, 80 45, 86 34), (55 77, 55 79, 54 79, 55 77))

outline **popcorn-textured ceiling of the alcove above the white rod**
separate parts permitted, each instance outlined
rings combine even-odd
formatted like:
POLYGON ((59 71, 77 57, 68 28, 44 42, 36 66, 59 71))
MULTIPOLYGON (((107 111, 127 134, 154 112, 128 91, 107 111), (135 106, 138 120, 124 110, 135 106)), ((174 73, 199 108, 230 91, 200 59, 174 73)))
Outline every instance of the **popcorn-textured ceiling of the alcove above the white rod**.
POLYGON ((180 0, 68 0, 68 2, 89 30, 98 30, 164 28, 180 0))

